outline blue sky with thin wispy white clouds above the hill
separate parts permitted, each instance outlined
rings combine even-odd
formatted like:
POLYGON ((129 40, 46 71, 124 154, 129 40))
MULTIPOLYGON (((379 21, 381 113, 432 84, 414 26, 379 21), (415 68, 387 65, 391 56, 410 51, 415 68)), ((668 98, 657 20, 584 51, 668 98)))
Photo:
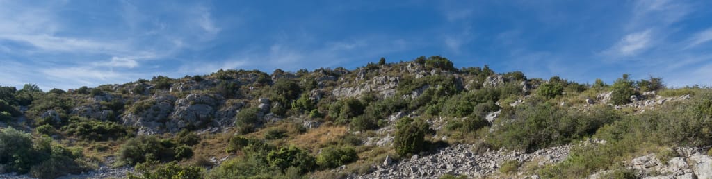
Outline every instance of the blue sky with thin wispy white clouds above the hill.
POLYGON ((712 1, 5 1, 0 85, 121 84, 224 69, 442 55, 577 82, 712 85, 712 1))

